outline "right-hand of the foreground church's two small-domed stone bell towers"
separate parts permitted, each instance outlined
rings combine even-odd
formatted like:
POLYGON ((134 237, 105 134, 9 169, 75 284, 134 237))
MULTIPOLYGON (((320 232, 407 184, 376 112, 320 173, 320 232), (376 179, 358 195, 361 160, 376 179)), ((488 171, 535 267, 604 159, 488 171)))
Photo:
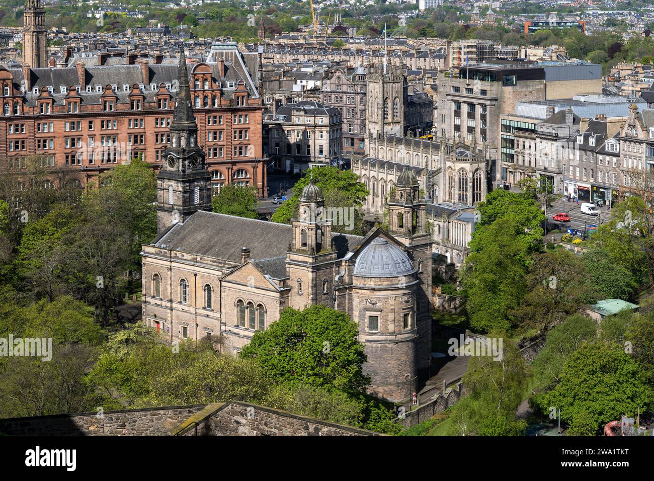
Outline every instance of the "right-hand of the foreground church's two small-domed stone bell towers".
POLYGON ((388 200, 388 232, 406 245, 421 281, 415 298, 418 375, 427 378, 432 359, 432 234, 420 183, 409 168, 398 177, 388 200))

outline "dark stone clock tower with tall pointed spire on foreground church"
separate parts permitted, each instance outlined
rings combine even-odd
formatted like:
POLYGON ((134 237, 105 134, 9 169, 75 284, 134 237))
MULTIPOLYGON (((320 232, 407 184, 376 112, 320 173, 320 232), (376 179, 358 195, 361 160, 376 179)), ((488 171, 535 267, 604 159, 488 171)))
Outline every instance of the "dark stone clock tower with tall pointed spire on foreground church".
POLYGON ((179 57, 179 92, 170 126, 170 141, 157 175, 157 234, 183 223, 196 211, 211 211, 211 176, 205 152, 198 145, 186 56, 179 57))

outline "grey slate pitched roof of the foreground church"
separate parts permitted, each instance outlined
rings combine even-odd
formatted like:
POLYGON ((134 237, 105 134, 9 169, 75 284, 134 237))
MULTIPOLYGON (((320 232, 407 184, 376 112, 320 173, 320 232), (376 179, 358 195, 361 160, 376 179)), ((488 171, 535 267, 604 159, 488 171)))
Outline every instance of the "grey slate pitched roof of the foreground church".
MULTIPOLYGON (((175 224, 165 232, 154 246, 240 264, 244 245, 250 249, 250 258, 269 259, 285 256, 292 237, 293 228, 289 224, 197 211, 184 223, 175 224)), ((354 251, 361 239, 350 234, 332 234, 339 258, 354 251)))

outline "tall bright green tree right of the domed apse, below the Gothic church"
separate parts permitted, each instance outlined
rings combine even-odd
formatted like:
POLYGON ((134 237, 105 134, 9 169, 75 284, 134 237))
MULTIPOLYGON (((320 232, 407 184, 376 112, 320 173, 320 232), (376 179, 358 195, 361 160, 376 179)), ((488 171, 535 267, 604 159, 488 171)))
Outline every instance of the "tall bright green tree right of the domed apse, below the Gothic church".
POLYGON ((470 325, 480 331, 508 330, 509 317, 525 295, 528 251, 516 240, 515 219, 498 219, 475 231, 462 277, 470 325))

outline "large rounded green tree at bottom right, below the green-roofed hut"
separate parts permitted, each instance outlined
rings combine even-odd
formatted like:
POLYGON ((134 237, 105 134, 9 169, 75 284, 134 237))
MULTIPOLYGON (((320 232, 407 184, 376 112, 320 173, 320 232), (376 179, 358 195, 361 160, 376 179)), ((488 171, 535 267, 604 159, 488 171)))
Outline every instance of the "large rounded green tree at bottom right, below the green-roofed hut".
POLYGON ((646 412, 653 394, 634 359, 599 342, 585 344, 570 355, 559 384, 545 394, 542 406, 560 409, 561 420, 575 425, 578 431, 579 425, 592 423, 599 433, 609 421, 623 414, 637 414, 639 406, 646 412))

